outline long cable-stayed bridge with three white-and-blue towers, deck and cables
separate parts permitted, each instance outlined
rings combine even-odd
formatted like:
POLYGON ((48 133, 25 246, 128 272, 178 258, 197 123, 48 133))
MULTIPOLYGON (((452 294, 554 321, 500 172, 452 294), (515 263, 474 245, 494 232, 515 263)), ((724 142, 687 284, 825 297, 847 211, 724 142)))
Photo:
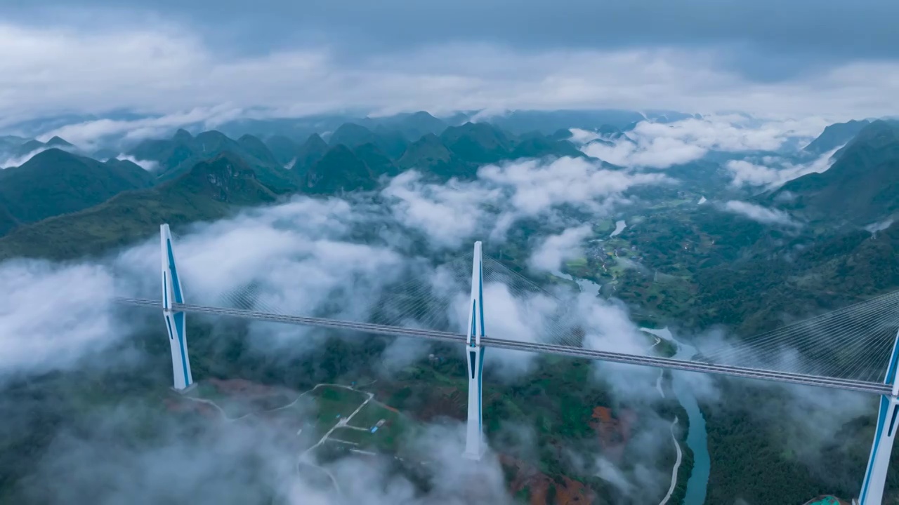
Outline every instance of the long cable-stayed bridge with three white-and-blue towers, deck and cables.
POLYGON ((221 293, 213 298, 215 303, 186 303, 167 225, 161 235, 162 300, 116 301, 163 310, 176 390, 193 382, 185 334, 185 315, 193 313, 463 344, 469 385, 465 455, 474 459, 485 452, 481 412, 485 347, 858 391, 880 396, 877 433, 859 503, 882 501, 899 415, 899 291, 737 342, 709 343, 691 359, 673 359, 635 345, 634 334, 622 338, 609 330, 595 331, 590 318, 579 314, 574 297, 541 287, 485 258, 479 242, 467 257, 440 265, 419 264, 403 272, 372 292, 376 294, 365 303, 318 306, 313 314, 296 315, 283 308, 277 293, 258 283, 221 293), (508 315, 485 312, 485 297, 487 311, 495 300, 497 308, 516 313, 511 318, 517 323, 504 323, 508 315), (488 337, 487 327, 499 327, 500 334, 488 337))

